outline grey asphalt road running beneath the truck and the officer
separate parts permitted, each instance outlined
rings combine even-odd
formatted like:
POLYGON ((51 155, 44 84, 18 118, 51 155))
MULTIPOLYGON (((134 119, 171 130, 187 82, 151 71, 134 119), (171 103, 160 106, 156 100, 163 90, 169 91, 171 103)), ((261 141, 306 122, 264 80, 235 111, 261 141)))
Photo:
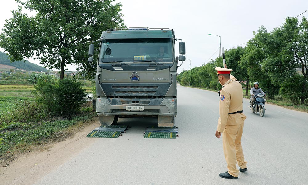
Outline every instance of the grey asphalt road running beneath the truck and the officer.
MULTIPOLYGON (((119 138, 87 138, 91 144, 35 184, 307 184, 308 113, 265 104, 265 116, 247 116, 242 137, 248 171, 227 171, 222 139, 215 138, 217 92, 178 86, 176 139, 144 139, 154 118, 120 118, 119 138)), ((94 128, 93 128, 94 129, 94 128)))

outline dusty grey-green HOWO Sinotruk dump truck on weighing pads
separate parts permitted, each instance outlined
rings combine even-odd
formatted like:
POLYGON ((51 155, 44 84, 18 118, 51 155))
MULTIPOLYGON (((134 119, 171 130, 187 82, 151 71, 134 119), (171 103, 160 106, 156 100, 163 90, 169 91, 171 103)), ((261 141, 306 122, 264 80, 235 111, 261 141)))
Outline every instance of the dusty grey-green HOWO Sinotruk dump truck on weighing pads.
POLYGON ((102 125, 119 117, 153 116, 157 126, 171 127, 177 115, 177 68, 185 61, 185 42, 169 28, 107 29, 89 46, 88 62, 97 54, 96 112, 102 125), (179 42, 179 56, 175 44, 179 42), (178 65, 178 61, 182 63, 178 65))

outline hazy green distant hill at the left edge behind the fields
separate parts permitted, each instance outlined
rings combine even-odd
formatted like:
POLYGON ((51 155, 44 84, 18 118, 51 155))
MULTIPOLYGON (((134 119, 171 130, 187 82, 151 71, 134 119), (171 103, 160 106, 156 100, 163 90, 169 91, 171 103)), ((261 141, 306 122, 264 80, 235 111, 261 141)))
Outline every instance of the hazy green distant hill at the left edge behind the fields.
POLYGON ((33 64, 29 62, 28 60, 24 61, 16 61, 16 62, 10 62, 9 56, 6 55, 6 53, 3 53, 0 51, 0 64, 7 65, 7 66, 13 66, 14 68, 22 69, 25 71, 43 71, 47 72, 46 68, 42 68, 42 66, 39 66, 37 64, 33 64))

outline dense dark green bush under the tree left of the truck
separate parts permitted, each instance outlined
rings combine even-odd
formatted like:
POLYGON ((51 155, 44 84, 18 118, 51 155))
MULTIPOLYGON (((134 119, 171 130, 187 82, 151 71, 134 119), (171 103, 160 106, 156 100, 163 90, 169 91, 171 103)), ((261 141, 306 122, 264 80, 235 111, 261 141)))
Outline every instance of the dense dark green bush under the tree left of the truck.
POLYGON ((76 113, 86 103, 82 84, 71 79, 39 79, 33 91, 36 101, 52 115, 76 113))

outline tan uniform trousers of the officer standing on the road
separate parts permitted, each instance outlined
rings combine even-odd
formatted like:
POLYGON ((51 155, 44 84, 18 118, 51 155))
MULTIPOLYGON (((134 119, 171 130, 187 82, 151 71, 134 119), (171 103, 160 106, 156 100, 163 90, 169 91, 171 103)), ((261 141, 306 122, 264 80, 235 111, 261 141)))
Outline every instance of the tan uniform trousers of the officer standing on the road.
POLYGON ((239 170, 236 168, 236 162, 242 169, 247 168, 247 162, 244 159, 241 138, 243 134, 244 122, 240 125, 226 125, 222 133, 223 148, 227 162, 228 173, 233 177, 238 177, 239 170))

